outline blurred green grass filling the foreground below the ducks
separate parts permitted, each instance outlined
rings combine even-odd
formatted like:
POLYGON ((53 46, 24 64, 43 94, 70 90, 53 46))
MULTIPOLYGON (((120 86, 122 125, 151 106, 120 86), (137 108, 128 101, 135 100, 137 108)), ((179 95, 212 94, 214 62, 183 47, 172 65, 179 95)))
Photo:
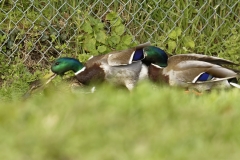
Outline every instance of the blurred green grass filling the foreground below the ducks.
POLYGON ((239 90, 52 87, 0 104, 1 159, 238 159, 239 90))

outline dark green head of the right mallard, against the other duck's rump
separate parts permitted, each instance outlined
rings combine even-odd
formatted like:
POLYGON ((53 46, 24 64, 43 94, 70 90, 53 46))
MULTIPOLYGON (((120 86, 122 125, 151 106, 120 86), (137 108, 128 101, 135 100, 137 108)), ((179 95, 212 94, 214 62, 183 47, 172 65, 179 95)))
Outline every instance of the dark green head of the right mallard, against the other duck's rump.
POLYGON ((166 67, 168 61, 168 55, 166 52, 155 46, 148 46, 144 48, 146 58, 143 63, 150 65, 151 63, 159 65, 160 67, 166 67))

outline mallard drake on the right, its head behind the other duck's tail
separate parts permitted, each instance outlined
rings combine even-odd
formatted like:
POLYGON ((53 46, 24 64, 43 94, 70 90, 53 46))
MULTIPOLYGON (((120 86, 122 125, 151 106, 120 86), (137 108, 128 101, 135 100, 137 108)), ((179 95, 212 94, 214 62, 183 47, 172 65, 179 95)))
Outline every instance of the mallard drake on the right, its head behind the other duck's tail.
POLYGON ((153 81, 164 81, 170 86, 193 88, 206 91, 212 88, 240 88, 237 84, 238 74, 222 65, 235 63, 207 55, 180 54, 168 58, 160 48, 149 46, 145 48, 148 56, 143 60, 149 63, 148 74, 153 81), (152 58, 155 57, 155 63, 152 58))

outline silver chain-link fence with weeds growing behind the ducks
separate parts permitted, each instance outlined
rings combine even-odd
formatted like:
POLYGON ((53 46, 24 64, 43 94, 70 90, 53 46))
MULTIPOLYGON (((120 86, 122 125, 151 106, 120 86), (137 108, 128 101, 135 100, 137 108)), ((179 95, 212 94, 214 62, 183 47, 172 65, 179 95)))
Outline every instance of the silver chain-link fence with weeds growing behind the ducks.
POLYGON ((0 0, 1 60, 10 64, 20 57, 31 65, 66 52, 80 54, 79 28, 87 15, 111 32, 106 20, 111 11, 132 41, 170 51, 204 52, 240 33, 240 0, 0 0))

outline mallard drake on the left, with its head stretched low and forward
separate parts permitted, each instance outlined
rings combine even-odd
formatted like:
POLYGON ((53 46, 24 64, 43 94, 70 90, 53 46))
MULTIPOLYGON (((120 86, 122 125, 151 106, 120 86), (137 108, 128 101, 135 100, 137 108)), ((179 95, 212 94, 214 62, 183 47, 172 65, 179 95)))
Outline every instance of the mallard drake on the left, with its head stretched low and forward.
POLYGON ((56 75, 63 75, 71 70, 82 84, 106 80, 131 90, 139 79, 147 77, 147 68, 141 60, 145 58, 145 47, 148 46, 149 42, 127 50, 94 56, 84 65, 74 58, 58 58, 51 70, 56 75))

